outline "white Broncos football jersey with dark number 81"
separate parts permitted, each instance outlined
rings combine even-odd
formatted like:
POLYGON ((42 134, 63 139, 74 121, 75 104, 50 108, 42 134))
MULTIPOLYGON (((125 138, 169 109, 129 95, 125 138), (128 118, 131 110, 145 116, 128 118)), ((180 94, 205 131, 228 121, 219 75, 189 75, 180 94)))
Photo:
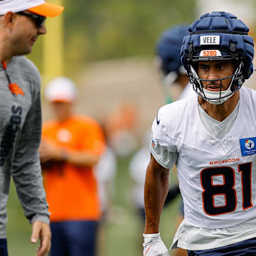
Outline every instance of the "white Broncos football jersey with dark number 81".
POLYGON ((242 87, 238 116, 223 139, 203 126, 197 95, 161 107, 151 153, 166 169, 176 163, 185 220, 228 228, 256 216, 256 92, 242 87))

